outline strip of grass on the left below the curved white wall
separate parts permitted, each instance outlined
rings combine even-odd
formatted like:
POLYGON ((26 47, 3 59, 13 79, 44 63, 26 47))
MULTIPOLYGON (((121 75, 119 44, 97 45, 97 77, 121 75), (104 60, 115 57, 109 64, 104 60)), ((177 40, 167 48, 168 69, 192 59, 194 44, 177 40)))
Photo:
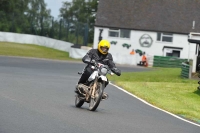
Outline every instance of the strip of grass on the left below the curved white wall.
POLYGON ((44 46, 29 44, 22 45, 8 42, 0 42, 0 55, 76 61, 75 59, 69 57, 68 52, 55 50, 44 46))

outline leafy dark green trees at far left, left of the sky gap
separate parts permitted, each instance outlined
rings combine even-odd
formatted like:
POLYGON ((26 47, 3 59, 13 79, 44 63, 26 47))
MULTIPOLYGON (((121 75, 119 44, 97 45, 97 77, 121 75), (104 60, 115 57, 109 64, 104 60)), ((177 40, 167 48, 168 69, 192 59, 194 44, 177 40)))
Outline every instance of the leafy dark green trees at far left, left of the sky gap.
POLYGON ((44 35, 50 26, 50 10, 44 0, 0 0, 0 30, 44 35))

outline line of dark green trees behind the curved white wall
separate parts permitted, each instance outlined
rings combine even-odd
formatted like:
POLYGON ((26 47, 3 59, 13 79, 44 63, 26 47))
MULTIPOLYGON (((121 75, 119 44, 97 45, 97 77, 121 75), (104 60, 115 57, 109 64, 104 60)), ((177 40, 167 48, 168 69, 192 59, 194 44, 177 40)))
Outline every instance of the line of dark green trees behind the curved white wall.
POLYGON ((97 0, 66 1, 54 18, 44 0, 0 0, 0 31, 87 45, 93 42, 97 5, 97 0))

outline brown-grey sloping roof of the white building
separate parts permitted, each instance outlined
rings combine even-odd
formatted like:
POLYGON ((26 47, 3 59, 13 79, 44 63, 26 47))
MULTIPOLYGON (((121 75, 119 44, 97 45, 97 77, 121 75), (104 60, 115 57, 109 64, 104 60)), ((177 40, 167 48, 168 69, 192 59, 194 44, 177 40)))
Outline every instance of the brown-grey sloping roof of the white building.
POLYGON ((95 26, 180 34, 200 32, 200 0, 99 0, 95 26))

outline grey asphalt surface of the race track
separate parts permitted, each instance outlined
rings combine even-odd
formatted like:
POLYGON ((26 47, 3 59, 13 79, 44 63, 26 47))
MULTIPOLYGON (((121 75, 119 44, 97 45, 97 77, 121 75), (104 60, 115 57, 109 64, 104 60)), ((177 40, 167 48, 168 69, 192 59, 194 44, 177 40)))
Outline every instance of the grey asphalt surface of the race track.
MULTIPOLYGON (((198 133, 200 127, 108 85, 95 112, 74 106, 78 71, 65 61, 0 56, 0 133, 198 133)), ((120 66, 122 72, 144 71, 120 66)))

